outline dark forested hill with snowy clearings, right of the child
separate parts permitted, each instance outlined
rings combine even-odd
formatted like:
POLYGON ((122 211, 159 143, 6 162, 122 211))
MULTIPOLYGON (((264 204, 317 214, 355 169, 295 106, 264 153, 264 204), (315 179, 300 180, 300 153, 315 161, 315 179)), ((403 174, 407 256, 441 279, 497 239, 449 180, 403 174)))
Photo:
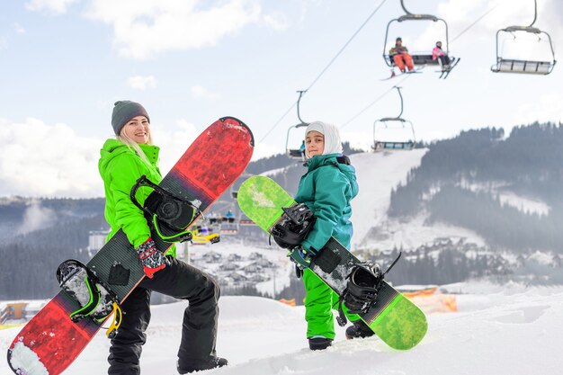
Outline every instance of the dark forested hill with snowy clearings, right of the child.
POLYGON ((391 193, 389 217, 469 229, 497 250, 563 253, 563 126, 462 132, 429 147, 391 193))

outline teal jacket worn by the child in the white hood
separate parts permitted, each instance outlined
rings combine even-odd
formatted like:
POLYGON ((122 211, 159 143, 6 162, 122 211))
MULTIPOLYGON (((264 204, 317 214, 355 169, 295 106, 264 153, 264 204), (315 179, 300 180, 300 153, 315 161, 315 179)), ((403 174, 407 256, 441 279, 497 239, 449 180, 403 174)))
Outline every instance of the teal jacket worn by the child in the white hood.
POLYGON ((358 195, 358 183, 353 166, 338 163, 337 156, 340 155, 311 157, 308 171, 299 181, 295 201, 305 203, 317 219, 301 244, 307 249, 320 250, 331 236, 350 247, 353 235, 350 201, 358 195))

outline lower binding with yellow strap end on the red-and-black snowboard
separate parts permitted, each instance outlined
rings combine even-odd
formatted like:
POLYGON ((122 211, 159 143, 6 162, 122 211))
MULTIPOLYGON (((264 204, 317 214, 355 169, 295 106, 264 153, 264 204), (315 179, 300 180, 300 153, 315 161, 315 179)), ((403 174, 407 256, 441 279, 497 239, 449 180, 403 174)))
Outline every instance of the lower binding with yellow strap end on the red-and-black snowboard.
POLYGON ((78 322, 85 317, 91 317, 103 322, 115 311, 112 326, 108 328, 107 335, 112 337, 121 324, 121 306, 119 299, 112 290, 100 281, 84 263, 70 259, 60 263, 57 269, 58 285, 61 289, 76 299, 80 305, 70 314, 73 322, 78 322))

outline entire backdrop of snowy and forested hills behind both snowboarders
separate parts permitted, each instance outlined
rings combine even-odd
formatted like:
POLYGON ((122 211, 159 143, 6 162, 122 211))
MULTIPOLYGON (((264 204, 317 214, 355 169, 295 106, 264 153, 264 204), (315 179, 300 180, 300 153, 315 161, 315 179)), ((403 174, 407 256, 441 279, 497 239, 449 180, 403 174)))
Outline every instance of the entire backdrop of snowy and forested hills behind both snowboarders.
MULTIPOLYGON (((470 130, 427 146, 377 154, 348 150, 360 185, 353 200, 353 251, 388 263, 403 250, 406 256, 389 275, 398 283, 483 276, 563 282, 562 127, 532 124, 506 138, 497 129, 470 130)), ((253 162, 210 211, 233 210, 241 218, 233 193, 248 174, 270 175, 294 193, 303 173, 301 163, 282 155, 253 162)), ((0 299, 49 298, 58 289, 58 263, 87 260, 88 234, 100 228, 107 228, 103 199, 0 199, 0 299)), ((221 247, 260 252, 267 241, 259 228, 241 226, 236 236, 223 236, 221 247)), ((288 290, 276 288, 276 297, 299 299, 300 282, 285 280, 278 286, 288 290)), ((227 284, 226 290, 260 292, 256 282, 249 285, 227 284)))

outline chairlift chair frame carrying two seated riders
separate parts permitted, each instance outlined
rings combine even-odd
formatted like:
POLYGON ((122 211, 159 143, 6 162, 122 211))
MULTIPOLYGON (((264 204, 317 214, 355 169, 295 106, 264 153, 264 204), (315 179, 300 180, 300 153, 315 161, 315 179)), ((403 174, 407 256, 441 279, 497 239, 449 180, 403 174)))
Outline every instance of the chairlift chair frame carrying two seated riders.
POLYGON ((444 44, 444 40, 442 41, 442 44, 444 45, 444 52, 446 53, 446 55, 450 58, 451 62, 450 62, 450 66, 442 66, 442 61, 440 58, 433 58, 432 53, 409 53, 410 56, 413 58, 413 65, 416 67, 426 67, 426 66, 441 66, 442 69, 440 70, 440 72, 442 72, 442 75, 440 76, 441 78, 445 76, 443 75, 443 73, 450 73, 451 68, 453 68, 455 66, 454 62, 456 61, 456 58, 453 58, 450 56, 450 39, 449 39, 449 34, 448 34, 448 23, 445 22, 445 20, 443 20, 440 17, 436 17, 435 15, 432 14, 415 14, 415 13, 410 13, 407 11, 407 8, 405 7, 405 4, 403 3, 403 0, 400 0, 400 4, 401 4, 401 8, 403 8, 403 11, 405 11, 405 14, 401 15, 398 18, 394 18, 391 21, 389 21, 389 23, 387 24, 387 30, 385 31, 385 41, 383 42, 383 60, 385 61, 385 63, 388 65, 388 67, 391 67, 391 69, 393 69, 394 67, 396 67, 395 65, 395 61, 393 60, 393 56, 391 56, 388 53, 387 47, 388 47, 388 40, 389 40, 389 27, 391 26, 391 24, 393 22, 407 22, 407 21, 431 21, 431 22, 442 22, 445 28, 445 44, 444 44))

